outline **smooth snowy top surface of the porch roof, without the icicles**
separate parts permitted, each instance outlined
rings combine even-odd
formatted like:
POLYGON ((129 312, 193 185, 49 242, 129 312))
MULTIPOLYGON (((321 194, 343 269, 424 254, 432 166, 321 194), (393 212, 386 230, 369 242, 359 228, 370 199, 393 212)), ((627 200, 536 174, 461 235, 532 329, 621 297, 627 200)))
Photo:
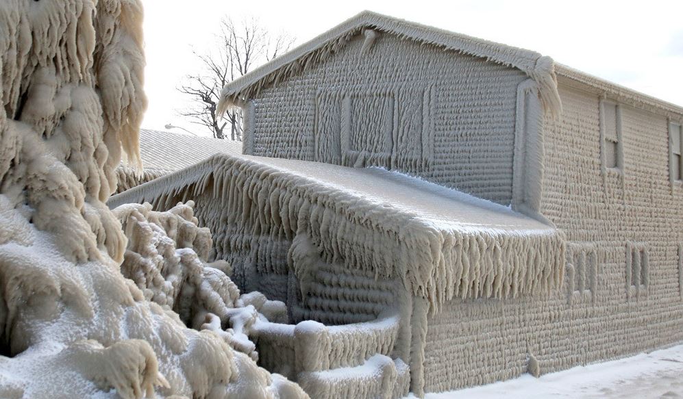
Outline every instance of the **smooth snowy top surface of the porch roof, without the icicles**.
MULTIPOLYGON (((288 179, 299 179, 299 183, 306 181, 311 190, 327 192, 330 195, 334 192, 345 192, 371 207, 390 207, 395 213, 394 216, 401 215, 401 218, 419 220, 436 229, 462 232, 486 230, 514 235, 530 232, 547 234, 554 231, 547 224, 512 211, 504 205, 383 168, 349 168, 320 162, 253 155, 225 154, 214 158, 220 160, 220 157, 223 157, 223 162, 267 166, 273 169, 273 172, 282 172, 282 176, 288 179)), ((196 176, 199 180, 204 174, 212 172, 216 159, 167 175, 159 179, 158 185, 171 187, 177 185, 176 181, 187 184, 188 179, 178 179, 180 175, 196 176)), ((134 188, 125 194, 132 201, 121 201, 119 196, 112 197, 112 200, 121 204, 138 202, 137 198, 141 196, 149 200, 152 198, 147 197, 147 194, 154 191, 155 188, 146 185, 145 188, 134 188)), ((369 217, 380 218, 380 213, 373 213, 369 217)))

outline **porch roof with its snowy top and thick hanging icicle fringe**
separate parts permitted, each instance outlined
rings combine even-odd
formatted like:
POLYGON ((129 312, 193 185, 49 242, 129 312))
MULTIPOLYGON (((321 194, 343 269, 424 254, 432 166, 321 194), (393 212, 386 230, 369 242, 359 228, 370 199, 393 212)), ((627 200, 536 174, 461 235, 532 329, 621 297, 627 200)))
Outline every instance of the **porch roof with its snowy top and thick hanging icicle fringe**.
POLYGON ((265 236, 307 231, 348 267, 403 279, 434 307, 453 296, 548 293, 563 275, 564 237, 553 227, 379 168, 216 155, 108 205, 148 201, 163 209, 189 200, 214 234, 225 235, 228 224, 245 229, 236 237, 249 237, 252 224, 265 236))

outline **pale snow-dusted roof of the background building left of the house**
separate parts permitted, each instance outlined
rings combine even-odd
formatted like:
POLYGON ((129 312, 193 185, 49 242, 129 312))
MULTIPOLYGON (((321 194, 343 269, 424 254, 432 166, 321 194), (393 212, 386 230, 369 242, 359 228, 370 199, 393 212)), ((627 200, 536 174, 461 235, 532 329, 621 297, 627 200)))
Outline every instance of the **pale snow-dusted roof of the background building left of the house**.
POLYGON ((175 172, 216 153, 240 154, 242 142, 140 129, 140 157, 145 171, 175 172))

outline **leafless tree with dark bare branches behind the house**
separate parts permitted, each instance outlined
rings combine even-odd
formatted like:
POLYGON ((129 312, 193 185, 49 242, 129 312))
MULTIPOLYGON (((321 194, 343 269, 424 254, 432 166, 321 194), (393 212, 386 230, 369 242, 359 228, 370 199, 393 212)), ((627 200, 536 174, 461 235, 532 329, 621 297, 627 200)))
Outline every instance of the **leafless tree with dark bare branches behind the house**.
POLYGON ((214 138, 227 138, 225 128, 229 126, 229 138, 241 140, 242 112, 230 110, 223 117, 216 112, 221 89, 253 67, 286 52, 295 39, 284 32, 271 34, 255 18, 239 24, 223 18, 216 41, 216 50, 206 54, 194 52, 203 71, 199 75, 188 75, 184 85, 178 88, 192 97, 192 105, 180 114, 193 123, 208 127, 214 138))

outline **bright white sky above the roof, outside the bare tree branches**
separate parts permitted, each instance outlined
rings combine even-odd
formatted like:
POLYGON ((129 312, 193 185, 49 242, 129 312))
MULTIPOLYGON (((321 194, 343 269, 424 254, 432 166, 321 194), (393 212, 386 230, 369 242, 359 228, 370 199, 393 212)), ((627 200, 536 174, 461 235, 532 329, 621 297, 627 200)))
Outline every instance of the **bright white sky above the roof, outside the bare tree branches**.
MULTIPOLYGON (((192 53, 214 47, 223 16, 254 16, 271 31, 306 42, 362 10, 372 10, 538 51, 557 62, 683 105, 683 1, 229 1, 142 0, 149 108, 142 127, 166 123, 209 135, 178 116, 176 88, 197 73, 192 53)), ((175 129, 178 133, 182 133, 175 129)))

